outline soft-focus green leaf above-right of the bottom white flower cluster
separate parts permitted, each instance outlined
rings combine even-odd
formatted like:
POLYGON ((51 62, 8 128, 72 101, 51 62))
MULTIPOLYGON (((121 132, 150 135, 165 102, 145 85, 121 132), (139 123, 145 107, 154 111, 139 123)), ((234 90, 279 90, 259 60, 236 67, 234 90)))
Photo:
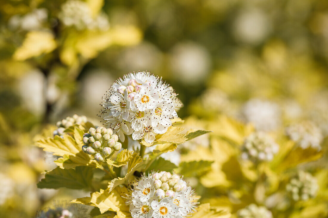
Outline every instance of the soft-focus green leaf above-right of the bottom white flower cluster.
POLYGON ((186 177, 197 176, 211 169, 213 161, 201 160, 191 162, 181 162, 178 172, 186 177))

